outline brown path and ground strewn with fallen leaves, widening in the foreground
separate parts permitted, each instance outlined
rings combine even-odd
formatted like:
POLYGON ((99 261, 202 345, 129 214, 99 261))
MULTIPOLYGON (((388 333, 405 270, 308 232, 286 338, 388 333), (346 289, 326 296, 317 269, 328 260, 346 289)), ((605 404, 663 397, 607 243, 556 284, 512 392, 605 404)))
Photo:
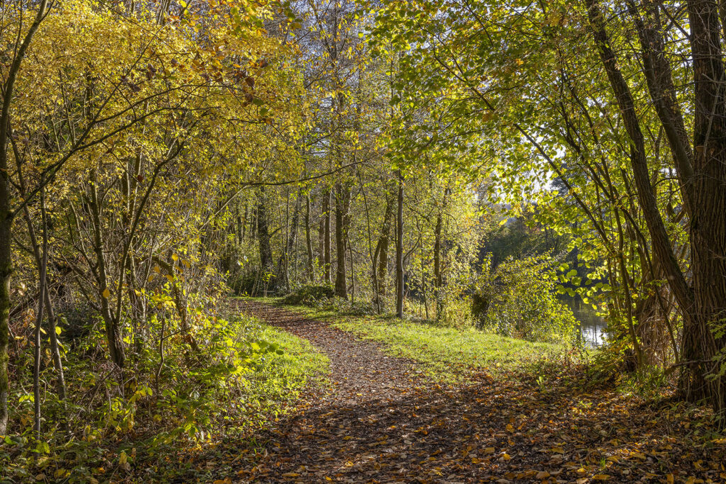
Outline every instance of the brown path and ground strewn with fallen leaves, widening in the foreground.
POLYGON ((237 304, 326 353, 332 390, 257 435, 254 451, 220 444, 232 465, 218 484, 726 482, 726 439, 692 408, 514 374, 439 385, 324 321, 237 304))

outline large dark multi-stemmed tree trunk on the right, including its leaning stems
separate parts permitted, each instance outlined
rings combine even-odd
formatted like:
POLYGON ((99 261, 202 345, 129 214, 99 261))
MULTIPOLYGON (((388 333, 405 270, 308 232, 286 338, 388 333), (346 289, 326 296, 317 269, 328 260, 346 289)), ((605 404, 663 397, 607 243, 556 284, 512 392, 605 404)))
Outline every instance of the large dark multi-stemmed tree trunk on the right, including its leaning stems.
MULTIPOLYGON (((717 376, 719 363, 714 358, 725 347, 726 337, 717 339, 711 332, 714 324, 720 323, 726 314, 726 104, 725 93, 722 92, 725 73, 718 5, 715 1, 706 0, 687 2, 696 94, 693 130, 696 153, 693 155, 693 167, 688 165, 688 150, 678 149, 677 146, 681 142, 677 122, 680 113, 670 109, 667 104, 657 105, 669 102, 667 83, 664 84, 660 82, 662 79, 653 78, 651 75, 647 76, 651 93, 662 97, 656 101, 656 112, 661 123, 666 126, 666 134, 669 129, 672 131, 669 142, 672 144, 674 156, 677 157, 679 181, 684 190, 683 199, 686 208, 690 205, 692 210, 689 235, 693 287, 689 287, 674 255, 653 186, 650 184, 643 131, 637 118, 635 101, 611 48, 600 4, 597 0, 587 0, 586 3, 595 44, 631 140, 630 163, 638 202, 643 209, 652 240, 653 253, 666 274, 684 320, 682 358, 688 363, 688 373, 682 379, 681 387, 690 398, 708 398, 724 424, 726 378, 717 376), (709 374, 715 377, 707 378, 709 374)), ((642 42, 645 34, 653 33, 642 28, 640 30, 642 42)), ((646 54, 653 47, 658 48, 653 37, 645 38, 645 41, 643 51, 646 54)), ((657 56, 646 59, 646 70, 657 67, 659 61, 657 56)))

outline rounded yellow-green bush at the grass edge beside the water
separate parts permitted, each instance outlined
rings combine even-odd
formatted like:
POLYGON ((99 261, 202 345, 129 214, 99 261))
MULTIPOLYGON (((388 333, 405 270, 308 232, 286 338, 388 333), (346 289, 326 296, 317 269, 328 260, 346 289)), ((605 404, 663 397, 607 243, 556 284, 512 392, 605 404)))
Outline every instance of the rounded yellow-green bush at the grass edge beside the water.
POLYGON ((557 299, 555 263, 539 255, 507 259, 495 271, 484 271, 472 298, 478 327, 531 341, 571 340, 577 321, 557 299))

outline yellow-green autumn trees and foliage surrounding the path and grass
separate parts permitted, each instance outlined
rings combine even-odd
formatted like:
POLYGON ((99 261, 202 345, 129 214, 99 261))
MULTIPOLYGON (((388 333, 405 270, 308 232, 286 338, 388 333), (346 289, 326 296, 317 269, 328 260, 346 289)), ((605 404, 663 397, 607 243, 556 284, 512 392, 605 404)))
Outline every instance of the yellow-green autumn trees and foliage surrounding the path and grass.
POLYGON ((715 0, 3 2, 0 435, 37 458, 275 414, 316 364, 241 295, 570 346, 576 298, 603 368, 726 422, 725 25, 715 0))

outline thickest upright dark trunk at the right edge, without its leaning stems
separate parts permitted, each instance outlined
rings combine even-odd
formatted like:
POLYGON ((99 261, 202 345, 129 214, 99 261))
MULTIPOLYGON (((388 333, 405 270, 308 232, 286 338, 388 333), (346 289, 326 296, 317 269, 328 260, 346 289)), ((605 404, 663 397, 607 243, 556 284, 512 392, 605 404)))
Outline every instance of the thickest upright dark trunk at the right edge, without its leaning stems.
MULTIPOLYGON (((718 2, 690 0, 690 44, 696 92, 693 144, 693 214, 690 220, 691 270, 695 308, 692 323, 698 349, 692 357, 696 382, 706 380, 706 396, 726 426, 726 375, 720 374, 726 335, 714 329, 726 318, 726 92, 722 25, 718 2), (718 361, 717 358, 721 358, 718 361), (719 368, 720 366, 720 368, 719 368), (719 375, 711 378, 712 376, 719 375), (703 378, 702 378, 703 377, 703 378)), ((688 356, 684 358, 688 361, 688 356)), ((695 395, 696 398, 700 395, 695 395)))

